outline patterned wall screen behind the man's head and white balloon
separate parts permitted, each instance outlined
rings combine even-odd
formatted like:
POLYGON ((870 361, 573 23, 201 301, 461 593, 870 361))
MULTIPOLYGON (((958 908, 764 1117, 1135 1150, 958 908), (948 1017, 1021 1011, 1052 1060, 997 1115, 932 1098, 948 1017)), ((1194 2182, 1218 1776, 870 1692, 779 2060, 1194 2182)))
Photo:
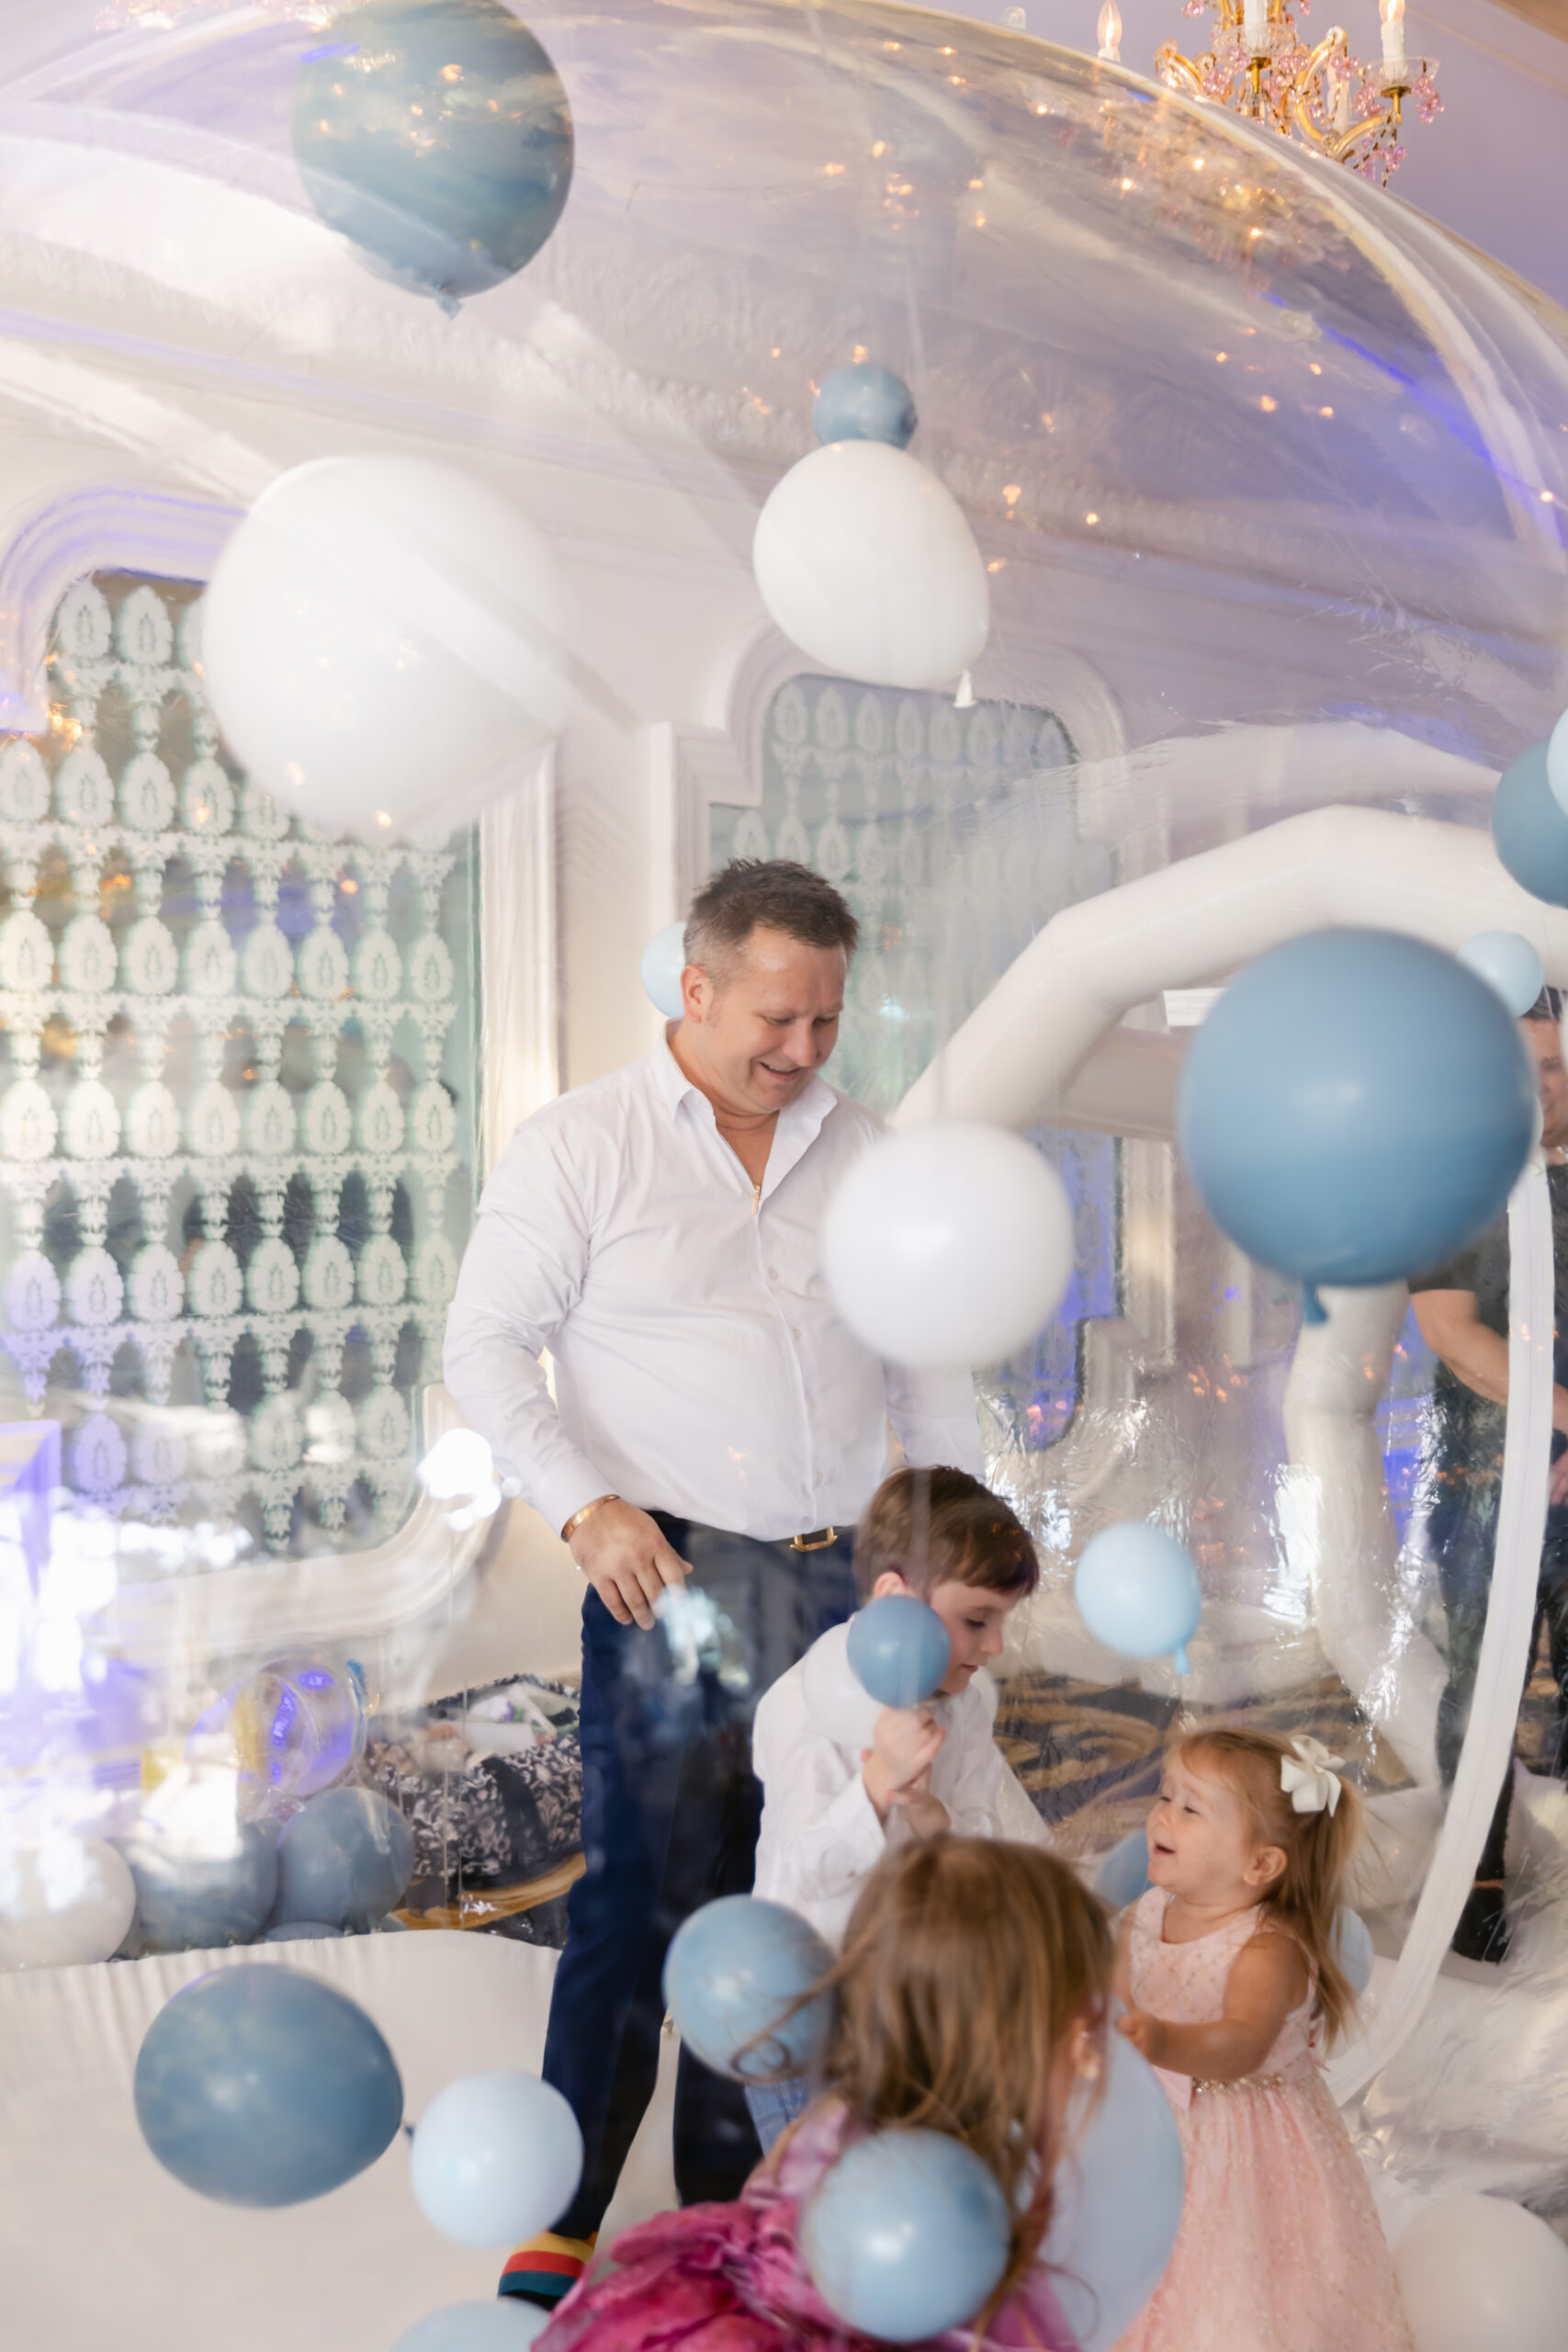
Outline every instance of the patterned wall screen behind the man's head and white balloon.
MULTIPOLYGON (((832 1080, 891 1110, 1060 908, 1112 880, 1077 826, 1074 748, 1051 710, 898 694, 835 677, 778 689, 762 804, 712 811, 712 863, 799 858, 860 922, 832 1080)), ((1117 1145, 1039 1134, 1077 1216, 1077 1275, 1037 1348, 983 1388, 1011 1444, 1044 1446, 1077 1404, 1077 1329, 1117 1312, 1117 1145)))

